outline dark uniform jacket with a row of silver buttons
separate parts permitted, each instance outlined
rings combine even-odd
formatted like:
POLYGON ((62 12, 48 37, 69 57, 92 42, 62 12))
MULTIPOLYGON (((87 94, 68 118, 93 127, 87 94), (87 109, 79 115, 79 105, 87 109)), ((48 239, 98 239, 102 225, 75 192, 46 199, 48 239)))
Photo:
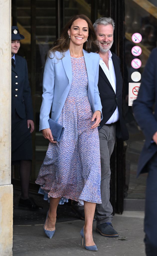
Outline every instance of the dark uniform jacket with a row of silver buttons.
POLYGON ((16 110, 20 118, 33 120, 27 61, 18 55, 15 58, 15 68, 11 65, 11 114, 16 110))

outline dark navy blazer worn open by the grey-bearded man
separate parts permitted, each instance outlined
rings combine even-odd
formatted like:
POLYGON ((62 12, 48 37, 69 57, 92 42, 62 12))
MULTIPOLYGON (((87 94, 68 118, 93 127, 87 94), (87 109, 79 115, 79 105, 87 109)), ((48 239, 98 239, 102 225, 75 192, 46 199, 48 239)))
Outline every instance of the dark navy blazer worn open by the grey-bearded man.
POLYGON ((119 121, 117 122, 117 125, 116 125, 116 137, 123 140, 128 140, 129 134, 123 119, 123 109, 122 109, 123 79, 120 71, 120 59, 113 52, 112 52, 112 61, 113 61, 113 66, 114 66, 115 76, 116 76, 116 93, 114 92, 113 87, 109 82, 109 80, 107 79, 101 66, 99 66, 98 88, 100 93, 100 99, 102 104, 102 115, 103 115, 103 120, 100 122, 100 126, 102 127, 110 119, 110 117, 116 110, 116 107, 118 106, 119 121))

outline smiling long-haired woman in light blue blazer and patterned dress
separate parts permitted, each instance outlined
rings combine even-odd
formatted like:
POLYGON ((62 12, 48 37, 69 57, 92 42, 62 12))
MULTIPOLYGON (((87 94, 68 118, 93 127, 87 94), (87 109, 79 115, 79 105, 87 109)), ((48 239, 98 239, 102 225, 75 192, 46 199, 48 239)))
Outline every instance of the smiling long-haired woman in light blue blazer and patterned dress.
POLYGON ((81 230, 87 250, 96 251, 92 223, 96 203, 101 203, 98 125, 101 101, 98 91, 99 47, 90 19, 73 16, 61 37, 50 49, 44 69, 40 131, 50 143, 37 184, 50 198, 44 231, 55 232, 59 201, 69 198, 84 204, 85 224, 81 230), (65 127, 60 142, 53 139, 51 119, 65 127))

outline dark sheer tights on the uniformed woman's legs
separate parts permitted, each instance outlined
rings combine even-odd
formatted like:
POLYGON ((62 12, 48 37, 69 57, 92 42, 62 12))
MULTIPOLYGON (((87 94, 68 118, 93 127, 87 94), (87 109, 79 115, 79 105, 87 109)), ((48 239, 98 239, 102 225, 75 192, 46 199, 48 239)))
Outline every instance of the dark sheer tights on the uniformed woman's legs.
POLYGON ((20 161, 20 181, 21 181, 21 198, 28 199, 29 198, 29 180, 31 175, 31 160, 21 160, 20 161))

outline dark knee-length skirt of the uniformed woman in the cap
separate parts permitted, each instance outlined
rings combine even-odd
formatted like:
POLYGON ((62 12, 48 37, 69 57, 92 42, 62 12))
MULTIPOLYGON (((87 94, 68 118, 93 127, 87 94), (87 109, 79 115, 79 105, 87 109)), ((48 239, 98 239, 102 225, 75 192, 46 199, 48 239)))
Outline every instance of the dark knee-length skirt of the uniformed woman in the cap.
POLYGON ((20 160, 32 160, 32 136, 26 118, 20 118, 15 110, 11 116, 11 162, 20 160))

